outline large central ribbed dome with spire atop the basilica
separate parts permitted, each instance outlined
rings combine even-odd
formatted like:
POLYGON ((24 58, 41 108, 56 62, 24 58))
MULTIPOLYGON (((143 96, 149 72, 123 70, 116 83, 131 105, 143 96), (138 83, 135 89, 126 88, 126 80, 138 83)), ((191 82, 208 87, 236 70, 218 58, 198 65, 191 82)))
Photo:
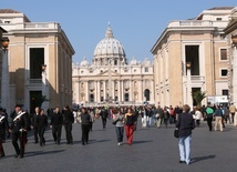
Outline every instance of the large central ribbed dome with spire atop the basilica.
POLYGON ((126 63, 126 54, 122 43, 113 37, 111 27, 107 27, 105 38, 102 39, 94 49, 93 63, 107 64, 126 63))

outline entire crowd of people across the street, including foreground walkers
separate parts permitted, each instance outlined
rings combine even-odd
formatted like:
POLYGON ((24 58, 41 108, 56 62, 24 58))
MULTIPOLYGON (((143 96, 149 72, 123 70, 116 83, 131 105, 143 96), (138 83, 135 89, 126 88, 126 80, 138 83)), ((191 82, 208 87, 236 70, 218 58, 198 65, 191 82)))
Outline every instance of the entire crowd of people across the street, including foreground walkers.
POLYGON ((11 138, 16 151, 14 158, 23 158, 25 144, 28 142, 28 132, 33 133, 34 143, 40 146, 45 145, 44 132, 48 128, 52 130, 52 138, 55 144, 61 144, 62 128, 65 130, 68 144, 73 144, 72 127, 73 123, 81 124, 81 144, 89 144, 89 133, 93 131, 93 123, 101 119, 102 128, 106 129, 107 119, 112 119, 115 125, 117 145, 124 143, 124 130, 126 143, 132 145, 133 133, 137 128, 137 120, 141 118, 141 128, 166 128, 175 124, 178 133, 179 163, 190 163, 190 138, 192 130, 200 125, 200 121, 207 121, 209 131, 213 131, 213 121, 215 120, 214 130, 224 131, 225 124, 235 124, 236 127, 236 107, 210 105, 194 107, 164 107, 161 105, 141 105, 141 107, 82 107, 79 110, 72 110, 65 105, 62 110, 59 107, 51 113, 44 112, 37 107, 34 113, 29 114, 23 111, 21 105, 16 105, 14 111, 8 114, 0 109, 0 158, 4 156, 2 143, 7 138, 11 138))

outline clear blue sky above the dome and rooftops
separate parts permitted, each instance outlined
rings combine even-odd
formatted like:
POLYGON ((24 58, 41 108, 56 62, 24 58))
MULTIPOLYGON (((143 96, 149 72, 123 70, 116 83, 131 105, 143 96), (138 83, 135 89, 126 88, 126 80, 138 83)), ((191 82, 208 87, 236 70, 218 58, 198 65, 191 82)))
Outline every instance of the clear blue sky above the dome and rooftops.
POLYGON ((236 0, 0 0, 1 9, 23 12, 32 22, 59 22, 75 50, 74 62, 83 57, 91 62, 109 22, 128 60, 152 60, 151 49, 169 21, 235 6, 236 0))

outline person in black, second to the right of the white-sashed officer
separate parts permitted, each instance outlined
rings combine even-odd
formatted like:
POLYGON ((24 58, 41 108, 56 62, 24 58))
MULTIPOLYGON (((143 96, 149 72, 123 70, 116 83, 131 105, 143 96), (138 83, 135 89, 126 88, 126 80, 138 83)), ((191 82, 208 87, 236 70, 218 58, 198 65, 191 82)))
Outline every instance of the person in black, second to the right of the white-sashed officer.
POLYGON ((45 145, 44 132, 48 127, 48 117, 44 113, 44 110, 40 110, 40 114, 37 117, 37 128, 40 135, 40 145, 45 145))

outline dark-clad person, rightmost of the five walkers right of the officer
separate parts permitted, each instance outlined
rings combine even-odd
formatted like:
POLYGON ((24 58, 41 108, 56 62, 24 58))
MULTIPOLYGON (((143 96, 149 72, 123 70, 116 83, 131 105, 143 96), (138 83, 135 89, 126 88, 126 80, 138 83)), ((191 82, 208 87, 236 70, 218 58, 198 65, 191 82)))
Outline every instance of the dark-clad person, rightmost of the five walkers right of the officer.
POLYGON ((87 113, 87 110, 83 107, 81 113, 82 145, 89 144, 90 121, 91 115, 87 113))

